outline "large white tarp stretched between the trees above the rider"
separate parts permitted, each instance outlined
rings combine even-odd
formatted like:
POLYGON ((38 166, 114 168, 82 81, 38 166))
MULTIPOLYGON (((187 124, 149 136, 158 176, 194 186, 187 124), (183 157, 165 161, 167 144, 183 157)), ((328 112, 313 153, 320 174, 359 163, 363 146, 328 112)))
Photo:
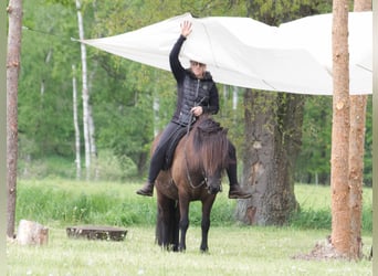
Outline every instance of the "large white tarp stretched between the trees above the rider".
MULTIPOLYGON (((192 18, 185 13, 85 44, 169 71, 180 23, 192 22, 180 60, 207 64, 218 83, 265 91, 332 95, 332 14, 270 26, 249 18, 192 18)), ((371 12, 349 13, 350 94, 372 93, 371 12)))

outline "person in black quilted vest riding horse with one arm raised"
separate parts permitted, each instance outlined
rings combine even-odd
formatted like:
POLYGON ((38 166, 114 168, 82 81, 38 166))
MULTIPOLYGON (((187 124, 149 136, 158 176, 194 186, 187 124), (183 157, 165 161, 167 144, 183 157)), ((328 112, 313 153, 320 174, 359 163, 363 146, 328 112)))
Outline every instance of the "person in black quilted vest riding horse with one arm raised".
MULTIPOLYGON (((154 182, 160 170, 165 167, 165 159, 168 148, 172 142, 177 141, 178 134, 190 127, 196 119, 202 114, 217 114, 219 110, 219 95, 212 76, 206 71, 206 64, 198 61, 190 61, 190 68, 182 67, 178 56, 183 42, 191 33, 191 23, 185 21, 181 24, 181 35, 174 45, 169 63, 172 74, 177 81, 178 99, 177 108, 171 121, 168 124, 159 142, 153 153, 148 180, 137 194, 153 197, 154 182)), ((230 199, 248 199, 252 194, 244 192, 238 182, 237 176, 237 153, 234 146, 229 141, 229 166, 227 173, 230 181, 229 198, 230 199)))

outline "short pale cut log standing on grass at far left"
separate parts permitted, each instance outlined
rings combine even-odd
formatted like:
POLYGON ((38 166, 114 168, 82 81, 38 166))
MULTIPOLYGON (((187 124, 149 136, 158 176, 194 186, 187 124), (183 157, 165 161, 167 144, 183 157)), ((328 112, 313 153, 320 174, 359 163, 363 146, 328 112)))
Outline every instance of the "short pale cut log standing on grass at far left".
POLYGON ((44 245, 49 242, 49 229, 36 222, 21 220, 15 240, 21 245, 44 245))

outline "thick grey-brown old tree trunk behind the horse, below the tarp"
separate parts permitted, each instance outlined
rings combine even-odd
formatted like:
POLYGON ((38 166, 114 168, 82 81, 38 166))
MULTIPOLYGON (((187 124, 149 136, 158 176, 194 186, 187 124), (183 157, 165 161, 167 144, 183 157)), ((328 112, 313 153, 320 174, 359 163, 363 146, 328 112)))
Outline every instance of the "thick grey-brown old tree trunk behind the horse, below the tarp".
POLYGON ((293 174, 304 98, 246 89, 244 104, 242 185, 253 195, 238 202, 237 215, 249 224, 283 225, 296 208, 293 174))

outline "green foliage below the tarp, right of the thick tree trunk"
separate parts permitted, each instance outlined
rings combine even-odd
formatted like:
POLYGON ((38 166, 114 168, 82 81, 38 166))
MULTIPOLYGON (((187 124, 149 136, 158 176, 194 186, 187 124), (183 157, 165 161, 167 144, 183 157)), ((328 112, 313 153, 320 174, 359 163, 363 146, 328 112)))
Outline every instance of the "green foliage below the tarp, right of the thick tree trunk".
MULTIPOLYGON (((296 181, 328 184, 330 174, 332 97, 306 96, 302 150, 296 160, 296 181)), ((372 183, 372 105, 368 97, 366 112, 364 183, 372 183)))

